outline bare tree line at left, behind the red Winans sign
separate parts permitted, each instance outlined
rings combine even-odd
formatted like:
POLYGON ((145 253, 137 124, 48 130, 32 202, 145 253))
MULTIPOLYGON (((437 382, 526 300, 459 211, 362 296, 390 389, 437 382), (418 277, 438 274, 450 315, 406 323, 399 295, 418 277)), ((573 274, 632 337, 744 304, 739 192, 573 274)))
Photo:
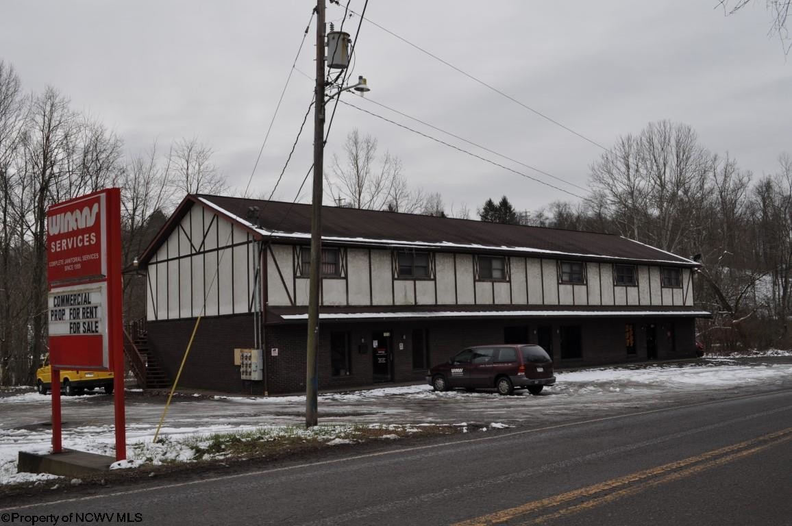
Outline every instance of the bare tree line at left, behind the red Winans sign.
MULTIPOLYGON (((187 192, 223 192, 197 138, 125 154, 123 140, 54 87, 26 93, 0 60, 0 385, 29 383, 47 352, 47 209, 111 186, 122 191, 130 266, 187 192)), ((145 313, 142 281, 124 274, 124 318, 145 313)))

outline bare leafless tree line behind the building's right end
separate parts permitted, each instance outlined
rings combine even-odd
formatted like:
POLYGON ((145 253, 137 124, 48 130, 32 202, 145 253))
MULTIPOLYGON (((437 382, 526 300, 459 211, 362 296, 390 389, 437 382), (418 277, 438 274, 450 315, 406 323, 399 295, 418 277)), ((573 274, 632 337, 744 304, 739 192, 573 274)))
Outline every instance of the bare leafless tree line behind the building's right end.
POLYGON ((756 177, 663 120, 619 137, 589 172, 584 200, 551 203, 527 224, 619 234, 699 261, 696 307, 713 318, 699 320, 698 337, 709 349, 790 347, 790 154, 756 177))

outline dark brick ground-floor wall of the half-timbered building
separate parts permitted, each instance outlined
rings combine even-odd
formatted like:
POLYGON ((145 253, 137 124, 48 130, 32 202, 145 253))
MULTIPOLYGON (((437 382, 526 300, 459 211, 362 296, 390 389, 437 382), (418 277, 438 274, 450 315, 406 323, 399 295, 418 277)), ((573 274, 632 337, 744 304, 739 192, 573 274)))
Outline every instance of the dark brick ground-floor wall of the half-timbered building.
MULTIPOLYGON (((194 323, 194 319, 188 319, 148 324, 151 348, 162 357, 171 379, 175 377, 181 363, 181 356, 194 323)), ((539 326, 551 326, 554 347, 552 354, 557 368, 646 360, 646 333, 652 326, 655 328, 658 359, 695 356, 693 318, 333 322, 322 323, 320 330, 317 359, 319 388, 353 388, 373 383, 372 340, 375 334, 382 337, 383 332, 390 333, 390 379, 407 382, 422 380, 426 373, 424 367, 413 368, 413 330, 428 331, 428 361, 434 365, 448 360, 468 345, 502 343, 505 327, 508 326, 527 326, 528 343, 537 342, 535 330, 539 326), (633 355, 626 353, 625 324, 628 322, 635 325, 636 353, 633 355), (565 325, 581 326, 581 359, 561 360, 558 328, 565 325), (350 366, 343 375, 337 376, 333 376, 330 357, 330 335, 333 332, 347 334, 349 341, 350 366)), ((239 379, 239 367, 234 365, 233 349, 253 346, 252 316, 247 314, 202 318, 180 385, 251 394, 264 394, 265 391, 270 394, 305 391, 306 339, 304 325, 266 327, 264 354, 267 380, 242 381, 239 379), (276 356, 273 356, 272 349, 277 349, 276 356)))

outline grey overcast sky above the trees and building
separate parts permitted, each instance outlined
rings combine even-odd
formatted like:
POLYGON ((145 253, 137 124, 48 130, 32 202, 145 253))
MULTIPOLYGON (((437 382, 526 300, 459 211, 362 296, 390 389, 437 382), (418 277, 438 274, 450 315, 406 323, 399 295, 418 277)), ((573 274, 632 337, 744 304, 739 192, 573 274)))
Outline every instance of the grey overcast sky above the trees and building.
MULTIPOLYGON (((341 0, 341 5, 345 0, 341 0)), ((725 17, 718 0, 599 2, 368 2, 366 17, 418 48, 507 93, 604 147, 653 120, 691 125, 704 147, 728 152, 756 175, 774 173, 792 154, 792 60, 767 35, 757 0, 725 17)), ((230 185, 244 189, 315 2, 156 0, 3 0, 0 59, 26 90, 55 86, 138 152, 154 140, 198 137, 230 185)), ((364 0, 352 0, 360 13, 364 0)), ((343 9, 329 4, 327 21, 343 9)), ((345 30, 354 32, 352 17, 345 30)), ((284 102, 253 175, 254 194, 270 192, 312 97, 315 18, 284 102), (302 73, 300 73, 300 71, 302 73), (306 76, 307 75, 307 76, 306 76)), ((513 170, 581 194, 602 153, 564 128, 363 22, 353 78, 371 92, 344 101, 432 135, 513 170), (403 112, 573 185, 498 158, 394 114, 403 112)), ((339 105, 326 166, 352 128, 402 160, 411 185, 440 192, 447 212, 472 212, 506 194, 516 208, 577 200, 339 105)), ((312 162, 312 116, 280 200, 293 200, 312 162)), ((310 192, 303 191, 303 202, 310 192)))

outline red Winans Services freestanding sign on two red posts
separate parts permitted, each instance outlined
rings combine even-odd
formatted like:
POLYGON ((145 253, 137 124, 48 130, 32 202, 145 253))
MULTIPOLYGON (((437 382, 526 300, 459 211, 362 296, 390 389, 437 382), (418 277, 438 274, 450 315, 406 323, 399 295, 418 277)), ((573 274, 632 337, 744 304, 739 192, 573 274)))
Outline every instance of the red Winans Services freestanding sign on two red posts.
POLYGON ((121 191, 105 189, 47 212, 52 451, 61 452, 60 369, 113 372, 116 459, 127 457, 121 322, 121 191))

